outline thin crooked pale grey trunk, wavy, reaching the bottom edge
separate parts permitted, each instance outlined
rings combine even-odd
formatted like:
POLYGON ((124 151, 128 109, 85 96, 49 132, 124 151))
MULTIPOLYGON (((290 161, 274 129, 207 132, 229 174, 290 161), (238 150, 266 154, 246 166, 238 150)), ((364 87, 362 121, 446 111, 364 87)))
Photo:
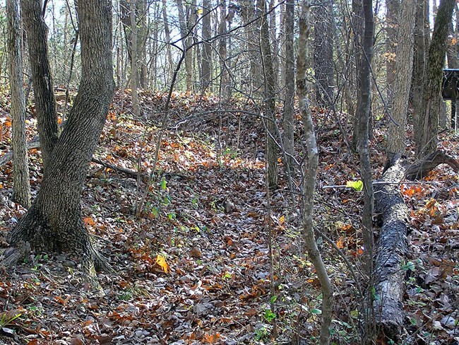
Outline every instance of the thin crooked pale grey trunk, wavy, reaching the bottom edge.
POLYGON ((322 325, 319 342, 321 345, 328 344, 330 340, 330 323, 332 320, 333 286, 328 277, 326 267, 323 264, 321 253, 318 251, 316 238, 314 237, 314 191, 316 189, 316 174, 318 166, 318 147, 316 134, 312 122, 311 109, 309 107, 309 82, 306 80, 306 57, 308 52, 308 39, 310 32, 311 0, 302 2, 302 13, 299 17, 299 38, 297 57, 297 93, 299 98, 299 111, 304 122, 304 139, 307 149, 307 167, 303 180, 303 233, 306 240, 306 249, 311 259, 322 289, 322 325))

